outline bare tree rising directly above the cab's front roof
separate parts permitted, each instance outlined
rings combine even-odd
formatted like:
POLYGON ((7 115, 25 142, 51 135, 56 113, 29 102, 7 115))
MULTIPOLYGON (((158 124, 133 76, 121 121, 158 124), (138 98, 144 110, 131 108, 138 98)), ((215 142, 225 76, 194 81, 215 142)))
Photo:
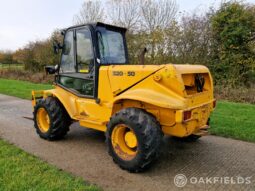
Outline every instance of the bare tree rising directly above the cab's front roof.
POLYGON ((104 8, 101 1, 84 1, 80 12, 74 16, 74 24, 84 24, 90 22, 103 22, 105 20, 104 8))

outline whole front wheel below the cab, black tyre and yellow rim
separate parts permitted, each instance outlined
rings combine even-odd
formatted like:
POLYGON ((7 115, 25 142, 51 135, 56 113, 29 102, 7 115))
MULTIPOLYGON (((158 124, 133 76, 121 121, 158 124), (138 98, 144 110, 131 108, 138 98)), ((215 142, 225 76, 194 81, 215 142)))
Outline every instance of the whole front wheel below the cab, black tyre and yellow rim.
POLYGON ((43 139, 58 140, 69 131, 71 119, 62 104, 54 97, 38 100, 33 114, 34 127, 43 139))

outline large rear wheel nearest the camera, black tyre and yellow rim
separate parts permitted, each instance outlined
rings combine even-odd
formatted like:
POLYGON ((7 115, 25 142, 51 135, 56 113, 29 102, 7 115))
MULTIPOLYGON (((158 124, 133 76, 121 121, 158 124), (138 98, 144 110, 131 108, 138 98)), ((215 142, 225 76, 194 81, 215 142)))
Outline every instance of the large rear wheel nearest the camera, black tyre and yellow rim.
POLYGON ((108 152, 115 163, 130 172, 141 172, 157 159, 162 137, 160 124, 141 109, 123 109, 107 125, 108 152))

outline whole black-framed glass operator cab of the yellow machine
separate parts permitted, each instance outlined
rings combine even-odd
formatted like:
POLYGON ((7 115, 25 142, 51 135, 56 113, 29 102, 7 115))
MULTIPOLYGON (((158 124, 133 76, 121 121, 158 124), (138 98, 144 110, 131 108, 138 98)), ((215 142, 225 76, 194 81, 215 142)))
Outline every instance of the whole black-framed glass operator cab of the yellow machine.
POLYGON ((79 97, 97 98, 100 66, 128 63, 125 32, 104 23, 65 29, 56 84, 79 97))

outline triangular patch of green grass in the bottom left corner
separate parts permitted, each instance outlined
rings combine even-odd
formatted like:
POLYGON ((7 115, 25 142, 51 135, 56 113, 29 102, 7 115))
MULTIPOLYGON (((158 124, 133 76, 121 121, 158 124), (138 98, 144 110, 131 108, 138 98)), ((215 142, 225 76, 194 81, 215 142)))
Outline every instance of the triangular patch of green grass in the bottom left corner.
POLYGON ((0 190, 99 190, 0 140, 0 190))

